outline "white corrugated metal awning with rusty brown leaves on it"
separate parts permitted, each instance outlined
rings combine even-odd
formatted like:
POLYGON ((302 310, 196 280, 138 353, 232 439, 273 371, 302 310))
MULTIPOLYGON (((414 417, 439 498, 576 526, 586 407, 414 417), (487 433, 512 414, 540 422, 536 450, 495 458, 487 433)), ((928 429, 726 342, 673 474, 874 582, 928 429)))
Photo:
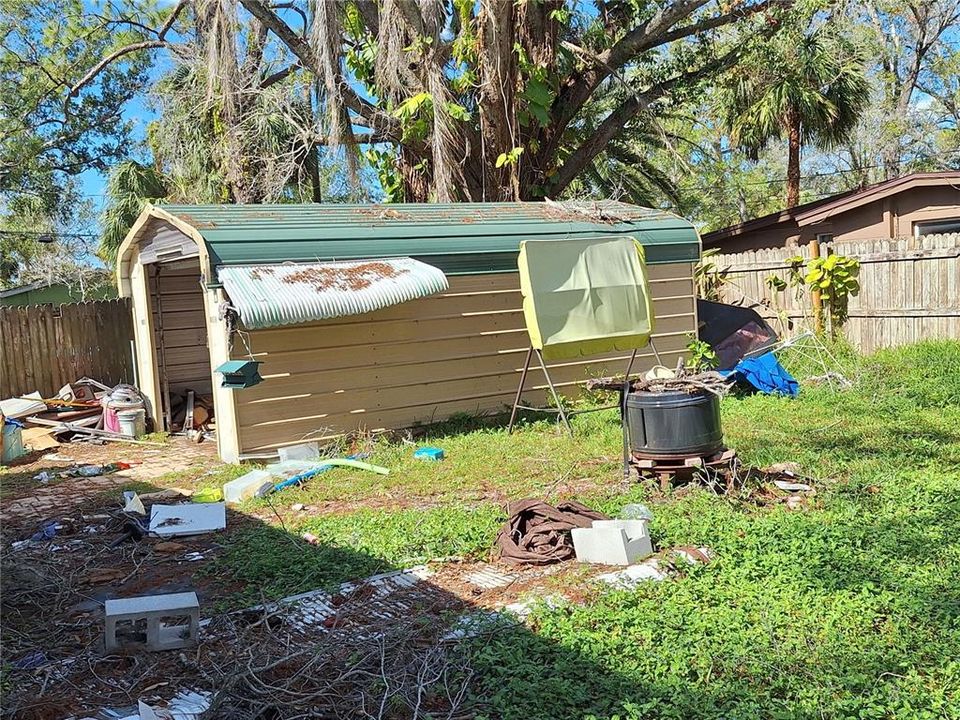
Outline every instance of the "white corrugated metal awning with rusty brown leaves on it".
POLYGON ((441 270, 408 257, 235 265, 217 276, 251 330, 361 315, 449 287, 441 270))

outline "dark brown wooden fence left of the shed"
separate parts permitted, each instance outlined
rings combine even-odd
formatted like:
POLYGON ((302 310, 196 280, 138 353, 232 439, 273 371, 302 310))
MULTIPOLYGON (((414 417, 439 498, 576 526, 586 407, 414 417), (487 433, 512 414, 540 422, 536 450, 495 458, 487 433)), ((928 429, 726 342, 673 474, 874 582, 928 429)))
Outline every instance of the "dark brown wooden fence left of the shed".
POLYGON ((0 308, 0 398, 91 377, 106 385, 133 381, 130 301, 0 308))

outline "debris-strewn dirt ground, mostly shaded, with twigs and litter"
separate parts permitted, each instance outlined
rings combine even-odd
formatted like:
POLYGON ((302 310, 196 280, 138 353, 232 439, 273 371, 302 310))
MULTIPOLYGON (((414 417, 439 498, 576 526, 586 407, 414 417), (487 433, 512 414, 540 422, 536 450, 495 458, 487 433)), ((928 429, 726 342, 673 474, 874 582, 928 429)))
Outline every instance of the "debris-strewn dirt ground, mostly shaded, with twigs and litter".
MULTIPOLYGON (((339 592, 317 591, 293 604, 225 613, 242 588, 218 575, 217 557, 233 533, 263 526, 268 518, 228 509, 222 532, 134 539, 121 502, 122 490, 130 487, 148 513, 155 502, 187 501, 182 486, 196 487, 219 465, 214 443, 173 439, 162 447, 64 445, 26 457, 0 476, 4 717, 107 717, 97 713, 131 708, 141 699, 163 705, 178 692, 223 688, 229 692, 216 697, 230 702, 215 707, 212 716, 243 716, 265 702, 258 699, 264 683, 286 686, 300 677, 281 669, 303 648, 316 648, 310 662, 322 667, 314 671, 330 674, 323 697, 336 687, 335 693, 362 702, 368 690, 341 677, 343 664, 353 658, 377 661, 369 644, 358 643, 375 638, 377 662, 398 663, 392 672, 404 676, 439 661, 442 653, 434 649, 444 646, 450 628, 463 632, 456 630, 457 618, 483 617, 531 597, 562 594, 564 601, 578 602, 592 592, 587 576, 597 569, 573 563, 515 568, 448 561, 359 580, 339 592), (130 467, 95 477, 33 479, 106 463, 130 467), (52 537, 30 540, 51 522, 52 537), (104 652, 105 600, 183 591, 195 591, 200 600, 198 647, 104 652)), ((371 672, 380 672, 379 666, 371 672)), ((450 709, 446 701, 436 702, 438 710, 450 709)))

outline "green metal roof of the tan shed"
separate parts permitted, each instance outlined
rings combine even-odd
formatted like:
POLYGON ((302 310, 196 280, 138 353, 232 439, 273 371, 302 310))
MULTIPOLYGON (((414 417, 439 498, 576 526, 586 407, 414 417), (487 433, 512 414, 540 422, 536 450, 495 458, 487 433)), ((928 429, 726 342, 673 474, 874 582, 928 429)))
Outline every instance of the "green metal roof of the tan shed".
POLYGON ((447 274, 516 271, 521 240, 630 235, 649 263, 695 262, 688 221, 624 203, 161 205, 213 266, 413 257, 447 274))

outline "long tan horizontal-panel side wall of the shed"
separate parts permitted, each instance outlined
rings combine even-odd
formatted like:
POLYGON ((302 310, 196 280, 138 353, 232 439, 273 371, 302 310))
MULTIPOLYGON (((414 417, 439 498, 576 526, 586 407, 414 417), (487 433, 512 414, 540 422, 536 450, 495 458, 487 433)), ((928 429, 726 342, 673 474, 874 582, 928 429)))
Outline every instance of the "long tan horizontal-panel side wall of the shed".
MULTIPOLYGON (((693 265, 648 270, 654 338, 672 366, 697 330, 693 265)), ((502 410, 513 401, 529 347, 521 306, 517 273, 454 276, 443 294, 375 313, 249 332, 264 382, 234 392, 240 454, 502 410)), ((638 370, 655 364, 650 348, 642 352, 638 370)), ((628 358, 564 360, 551 364, 551 377, 575 393, 591 377, 622 373, 628 358)), ((527 387, 528 402, 544 401, 538 368, 527 387)))

